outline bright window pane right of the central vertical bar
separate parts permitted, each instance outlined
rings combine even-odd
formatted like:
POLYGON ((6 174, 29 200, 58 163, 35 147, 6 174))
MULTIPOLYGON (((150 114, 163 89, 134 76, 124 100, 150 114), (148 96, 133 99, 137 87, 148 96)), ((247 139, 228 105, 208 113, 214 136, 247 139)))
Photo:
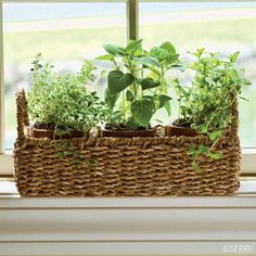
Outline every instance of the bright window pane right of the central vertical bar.
POLYGON ((148 47, 171 41, 183 57, 205 48, 226 54, 240 51, 240 64, 253 82, 240 102, 243 146, 256 146, 256 3, 140 3, 140 38, 148 47))

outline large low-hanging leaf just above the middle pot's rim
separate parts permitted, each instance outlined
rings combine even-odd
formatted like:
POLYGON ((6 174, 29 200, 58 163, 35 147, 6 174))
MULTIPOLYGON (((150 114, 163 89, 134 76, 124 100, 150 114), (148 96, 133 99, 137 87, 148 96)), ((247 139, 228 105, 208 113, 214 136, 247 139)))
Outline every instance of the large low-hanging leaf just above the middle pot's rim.
POLYGON ((135 121, 140 126, 146 127, 153 116, 154 101, 141 99, 131 103, 131 113, 135 121))

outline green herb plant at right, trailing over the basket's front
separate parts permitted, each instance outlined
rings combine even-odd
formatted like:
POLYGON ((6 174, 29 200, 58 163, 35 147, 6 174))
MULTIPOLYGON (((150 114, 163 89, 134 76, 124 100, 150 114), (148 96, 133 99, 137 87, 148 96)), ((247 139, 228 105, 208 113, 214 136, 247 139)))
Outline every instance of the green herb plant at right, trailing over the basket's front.
POLYGON ((179 125, 189 124, 210 141, 208 145, 192 144, 188 152, 193 158, 193 169, 201 171, 200 159, 222 157, 222 152, 216 151, 215 146, 229 131, 233 118, 232 105, 249 81, 236 65, 239 52, 225 60, 219 53, 207 53, 204 49, 192 54, 196 57, 189 66, 194 72, 192 87, 180 86, 178 79, 174 80, 174 87, 179 98, 179 125))

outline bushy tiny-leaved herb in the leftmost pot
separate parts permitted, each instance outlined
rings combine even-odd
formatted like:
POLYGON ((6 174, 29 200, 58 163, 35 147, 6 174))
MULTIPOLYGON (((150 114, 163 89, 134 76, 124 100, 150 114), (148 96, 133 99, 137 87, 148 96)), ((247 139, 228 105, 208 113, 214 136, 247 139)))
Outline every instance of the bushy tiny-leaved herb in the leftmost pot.
POLYGON ((60 75, 37 54, 31 68, 34 86, 28 93, 30 119, 64 132, 89 131, 102 123, 106 107, 95 92, 87 89, 94 69, 90 61, 85 61, 78 74, 60 75))

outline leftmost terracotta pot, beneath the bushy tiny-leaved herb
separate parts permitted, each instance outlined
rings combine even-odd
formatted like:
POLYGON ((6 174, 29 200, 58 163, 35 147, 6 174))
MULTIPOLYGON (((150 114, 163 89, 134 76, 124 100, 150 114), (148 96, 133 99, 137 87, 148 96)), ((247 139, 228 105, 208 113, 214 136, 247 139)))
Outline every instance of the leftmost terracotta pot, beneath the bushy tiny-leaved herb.
POLYGON ((80 130, 72 130, 68 133, 64 133, 62 136, 54 137, 54 130, 44 130, 44 129, 36 129, 33 127, 25 126, 24 133, 26 137, 30 138, 48 138, 50 140, 54 139, 72 139, 72 138, 81 138, 85 137, 85 132, 80 130))

